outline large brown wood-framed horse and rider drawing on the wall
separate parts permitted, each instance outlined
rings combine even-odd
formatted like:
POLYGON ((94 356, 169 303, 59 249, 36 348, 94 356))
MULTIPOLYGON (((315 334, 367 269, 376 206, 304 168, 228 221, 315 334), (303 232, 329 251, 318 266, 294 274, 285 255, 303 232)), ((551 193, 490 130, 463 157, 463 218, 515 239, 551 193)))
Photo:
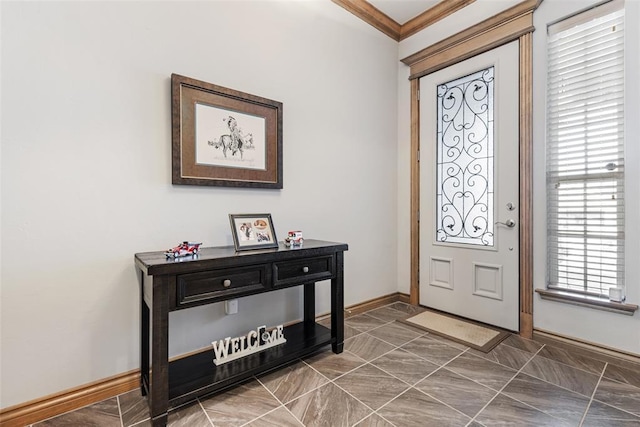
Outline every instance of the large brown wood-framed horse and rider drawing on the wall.
POLYGON ((282 103, 171 75, 172 183, 282 188, 282 103))

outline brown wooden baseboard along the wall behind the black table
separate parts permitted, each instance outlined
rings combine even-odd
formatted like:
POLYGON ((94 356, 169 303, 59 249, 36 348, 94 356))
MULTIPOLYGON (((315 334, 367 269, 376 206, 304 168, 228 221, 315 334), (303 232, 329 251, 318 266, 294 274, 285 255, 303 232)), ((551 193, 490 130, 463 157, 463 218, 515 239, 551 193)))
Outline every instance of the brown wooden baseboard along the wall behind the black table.
MULTIPOLYGON (((346 316, 355 316, 394 302, 409 303, 409 295, 396 292, 345 308, 346 316)), ((318 316, 318 318, 327 315, 318 316)), ((90 384, 11 406, 0 411, 0 427, 24 427, 65 412, 115 397, 140 387, 140 372, 134 370, 90 384)))

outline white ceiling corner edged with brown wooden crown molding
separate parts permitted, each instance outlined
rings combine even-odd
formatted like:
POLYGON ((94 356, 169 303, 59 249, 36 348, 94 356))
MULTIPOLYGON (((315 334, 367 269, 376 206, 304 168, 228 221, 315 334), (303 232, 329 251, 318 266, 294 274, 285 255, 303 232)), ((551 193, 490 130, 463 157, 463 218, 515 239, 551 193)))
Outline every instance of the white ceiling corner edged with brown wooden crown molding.
POLYGON ((394 40, 403 40, 476 0, 332 0, 394 40))

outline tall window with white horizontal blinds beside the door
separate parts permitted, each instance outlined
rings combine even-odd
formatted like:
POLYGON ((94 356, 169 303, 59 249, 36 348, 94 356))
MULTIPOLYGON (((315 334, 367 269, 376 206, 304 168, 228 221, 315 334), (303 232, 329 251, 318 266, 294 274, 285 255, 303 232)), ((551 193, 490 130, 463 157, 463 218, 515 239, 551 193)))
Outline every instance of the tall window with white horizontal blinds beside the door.
POLYGON ((624 288, 624 4, 548 28, 548 287, 624 288))

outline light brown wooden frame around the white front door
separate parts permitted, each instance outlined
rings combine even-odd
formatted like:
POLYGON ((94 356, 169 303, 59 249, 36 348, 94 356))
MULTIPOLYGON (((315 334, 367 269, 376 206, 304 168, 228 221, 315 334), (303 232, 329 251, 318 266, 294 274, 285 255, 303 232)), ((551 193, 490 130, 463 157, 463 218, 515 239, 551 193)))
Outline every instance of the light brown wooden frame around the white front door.
POLYGON ((518 40, 519 43, 519 306, 520 335, 533 336, 533 12, 542 0, 525 0, 504 12, 404 58, 411 85, 411 284, 420 301, 420 77, 518 40))

